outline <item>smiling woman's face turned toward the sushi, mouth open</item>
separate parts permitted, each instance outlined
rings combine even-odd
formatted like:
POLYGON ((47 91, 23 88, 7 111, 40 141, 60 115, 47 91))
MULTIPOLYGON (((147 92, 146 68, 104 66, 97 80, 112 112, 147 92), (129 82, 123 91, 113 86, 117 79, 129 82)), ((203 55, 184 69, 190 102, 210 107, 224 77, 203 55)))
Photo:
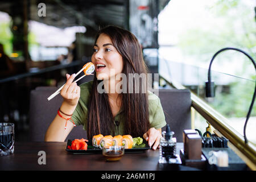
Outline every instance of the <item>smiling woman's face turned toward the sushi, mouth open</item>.
POLYGON ((95 65, 98 80, 108 80, 122 73, 123 59, 112 40, 106 34, 101 34, 93 47, 92 63, 95 65))

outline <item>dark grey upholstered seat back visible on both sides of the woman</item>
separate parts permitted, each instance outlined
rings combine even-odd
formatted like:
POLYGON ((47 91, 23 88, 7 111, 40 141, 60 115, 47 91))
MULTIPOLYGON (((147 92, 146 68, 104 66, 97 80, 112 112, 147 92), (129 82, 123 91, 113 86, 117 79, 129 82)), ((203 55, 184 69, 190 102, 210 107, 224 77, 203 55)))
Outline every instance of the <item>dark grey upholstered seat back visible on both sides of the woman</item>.
MULTIPOLYGON (((44 135, 57 114, 63 98, 57 95, 48 101, 49 97, 57 88, 38 87, 31 91, 30 96, 30 139, 42 142, 44 135)), ((184 129, 191 129, 191 98, 189 90, 160 89, 159 98, 163 106, 166 122, 175 132, 177 142, 182 142, 184 129)), ((163 128, 163 131, 165 127, 163 128)), ((73 128, 67 139, 86 138, 86 131, 82 126, 73 128)), ((67 140, 66 139, 66 140, 67 140)))

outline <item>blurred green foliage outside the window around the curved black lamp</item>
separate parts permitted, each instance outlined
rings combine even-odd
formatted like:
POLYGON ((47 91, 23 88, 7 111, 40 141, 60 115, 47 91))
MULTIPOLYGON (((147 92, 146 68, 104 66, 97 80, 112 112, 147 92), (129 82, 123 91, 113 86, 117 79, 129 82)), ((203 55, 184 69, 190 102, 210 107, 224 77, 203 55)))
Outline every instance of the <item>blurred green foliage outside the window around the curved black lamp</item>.
MULTIPOLYGON (((214 17, 216 22, 204 24, 207 28, 192 27, 180 35, 179 47, 184 55, 191 56, 201 63, 208 63, 213 54, 224 47, 236 47, 249 53, 256 60, 256 22, 254 6, 242 0, 217 0, 211 1, 205 7, 214 17)), ((220 60, 229 60, 232 64, 236 54, 225 53, 220 60), (228 59, 227 59, 228 58, 228 59)), ((238 75, 246 75, 247 68, 253 64, 246 56, 241 56, 242 71, 238 75)), ((218 64, 221 64, 219 61, 218 64)), ((225 70, 223 71, 225 73, 225 70)), ((255 80, 255 72, 249 75, 255 80)), ((217 83, 216 83, 217 84, 217 83)), ((229 92, 216 93, 210 105, 225 117, 246 117, 253 98, 255 82, 236 79, 229 84, 229 92)), ((256 107, 251 116, 256 115, 256 107)))

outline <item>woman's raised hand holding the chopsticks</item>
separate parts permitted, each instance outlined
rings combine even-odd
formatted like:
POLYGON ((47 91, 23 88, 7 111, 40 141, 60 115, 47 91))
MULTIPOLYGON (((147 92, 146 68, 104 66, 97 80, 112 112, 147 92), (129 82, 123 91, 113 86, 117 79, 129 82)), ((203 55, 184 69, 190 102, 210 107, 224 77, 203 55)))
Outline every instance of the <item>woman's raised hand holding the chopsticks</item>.
POLYGON ((61 89, 60 94, 63 97, 63 104, 65 107, 76 107, 80 98, 80 86, 77 86, 76 82, 73 82, 76 74, 66 75, 67 82, 64 85, 63 89, 61 89))

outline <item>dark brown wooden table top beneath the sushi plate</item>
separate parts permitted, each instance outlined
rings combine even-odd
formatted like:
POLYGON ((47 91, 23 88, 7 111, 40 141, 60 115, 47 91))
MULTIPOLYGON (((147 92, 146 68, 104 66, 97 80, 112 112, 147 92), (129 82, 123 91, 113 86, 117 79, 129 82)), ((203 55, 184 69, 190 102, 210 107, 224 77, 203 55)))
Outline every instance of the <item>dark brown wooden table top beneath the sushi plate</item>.
MULTIPOLYGON (((100 154, 72 154, 65 150, 66 142, 15 142, 14 154, 0 156, 0 170, 49 170, 49 171, 161 171, 159 150, 142 153, 125 153, 117 162, 107 162, 100 154), (46 164, 39 164, 39 151, 46 152, 46 164)), ((183 143, 177 143, 177 153, 183 143)), ((177 166, 177 165, 176 165, 177 166)), ((179 165, 176 170, 197 170, 179 165)), ((169 166, 170 167, 170 166, 169 166)))

